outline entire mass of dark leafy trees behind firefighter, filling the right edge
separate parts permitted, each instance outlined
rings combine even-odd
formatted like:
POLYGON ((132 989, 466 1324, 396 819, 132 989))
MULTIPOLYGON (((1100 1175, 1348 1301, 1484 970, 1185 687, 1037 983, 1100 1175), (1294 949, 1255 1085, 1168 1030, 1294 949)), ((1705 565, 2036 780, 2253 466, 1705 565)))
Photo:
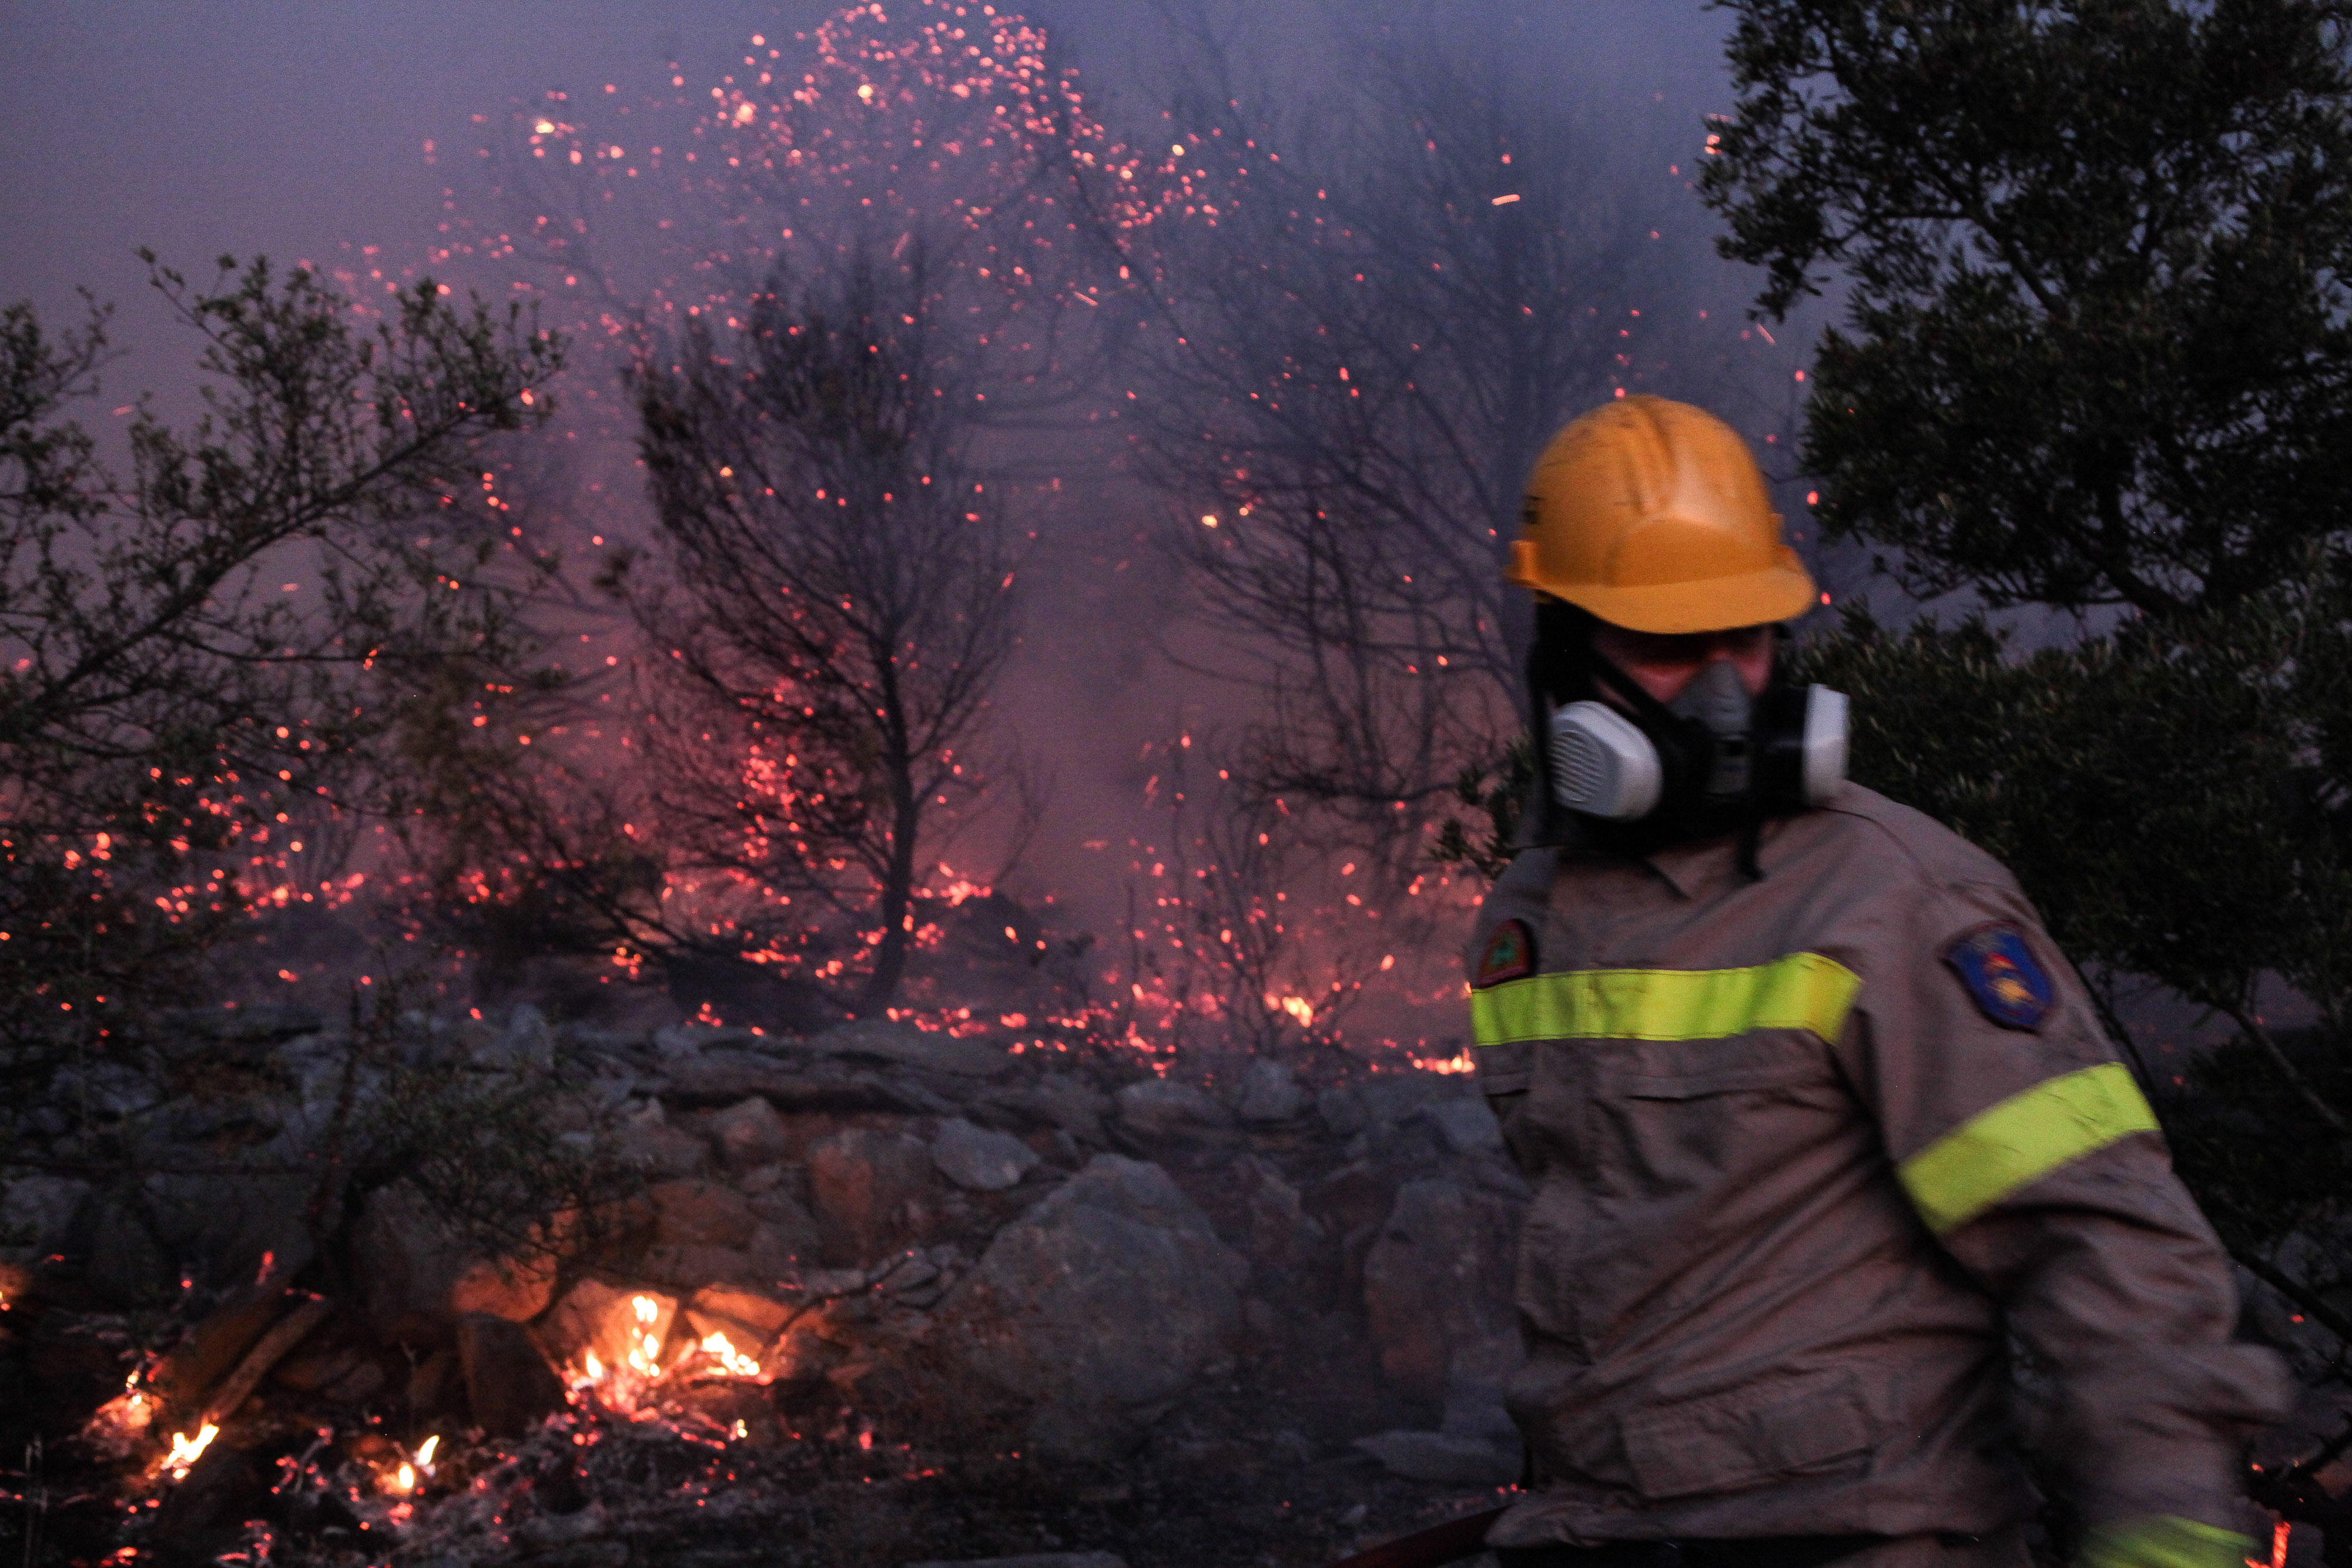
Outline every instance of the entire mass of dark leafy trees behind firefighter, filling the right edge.
POLYGON ((1912 595, 2077 616, 2037 651, 1849 616, 1804 670, 1853 693, 1863 783, 2009 860, 2232 1253, 2352 1349, 2352 5, 1726 9, 1722 249, 1766 315, 1844 292, 1825 527, 1912 595), (2234 1041, 2147 1060, 2131 976, 2234 1041))

